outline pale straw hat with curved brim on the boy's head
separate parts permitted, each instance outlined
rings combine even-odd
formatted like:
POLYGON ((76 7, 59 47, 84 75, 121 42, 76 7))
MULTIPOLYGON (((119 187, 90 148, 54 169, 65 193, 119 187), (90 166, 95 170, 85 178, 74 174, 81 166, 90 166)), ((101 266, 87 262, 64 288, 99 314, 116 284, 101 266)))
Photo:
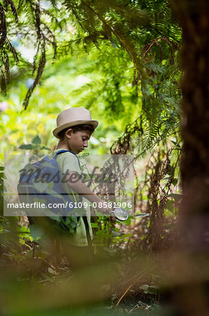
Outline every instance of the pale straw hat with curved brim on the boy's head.
POLYGON ((64 110, 57 117, 57 128, 52 132, 58 138, 58 133, 67 127, 89 124, 96 129, 99 124, 98 121, 92 119, 89 110, 84 107, 72 107, 71 109, 64 110))

